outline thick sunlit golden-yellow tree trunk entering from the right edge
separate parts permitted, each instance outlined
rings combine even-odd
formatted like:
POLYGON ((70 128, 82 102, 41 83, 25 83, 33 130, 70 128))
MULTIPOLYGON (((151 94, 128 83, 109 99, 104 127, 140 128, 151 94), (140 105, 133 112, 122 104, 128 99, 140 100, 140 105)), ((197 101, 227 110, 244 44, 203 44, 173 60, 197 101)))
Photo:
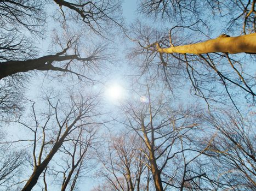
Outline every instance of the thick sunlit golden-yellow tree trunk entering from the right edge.
POLYGON ((192 53, 200 55, 202 53, 223 52, 223 53, 256 53, 256 33, 229 37, 220 35, 218 38, 204 41, 202 43, 171 46, 162 49, 156 44, 157 51, 160 53, 192 53))

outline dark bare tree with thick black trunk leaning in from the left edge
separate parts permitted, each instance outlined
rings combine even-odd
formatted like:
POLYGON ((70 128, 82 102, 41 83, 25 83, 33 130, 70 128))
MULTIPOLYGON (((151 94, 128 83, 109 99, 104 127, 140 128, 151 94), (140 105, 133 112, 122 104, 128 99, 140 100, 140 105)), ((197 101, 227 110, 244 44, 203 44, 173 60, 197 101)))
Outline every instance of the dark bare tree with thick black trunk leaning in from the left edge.
MULTIPOLYGON (((78 44, 78 38, 71 37, 70 39, 67 39, 66 46, 62 46, 62 43, 59 44, 62 49, 60 52, 54 55, 47 55, 35 59, 26 59, 25 61, 2 62, 0 64, 0 79, 17 73, 24 73, 32 70, 53 70, 61 71, 64 74, 72 73, 77 75, 79 79, 80 77, 84 77, 85 80, 87 80, 88 77, 86 77, 86 75, 83 73, 78 73, 72 68, 76 68, 77 64, 80 62, 82 63, 79 67, 81 70, 88 69, 92 67, 92 65, 97 65, 98 61, 106 61, 110 58, 110 55, 106 53, 106 47, 98 45, 92 52, 89 52, 89 55, 84 55, 84 57, 81 57, 79 50, 77 49, 78 44), (58 62, 63 61, 65 61, 65 63, 58 64, 58 62)), ((84 71, 84 73, 85 72, 86 71, 84 71)))

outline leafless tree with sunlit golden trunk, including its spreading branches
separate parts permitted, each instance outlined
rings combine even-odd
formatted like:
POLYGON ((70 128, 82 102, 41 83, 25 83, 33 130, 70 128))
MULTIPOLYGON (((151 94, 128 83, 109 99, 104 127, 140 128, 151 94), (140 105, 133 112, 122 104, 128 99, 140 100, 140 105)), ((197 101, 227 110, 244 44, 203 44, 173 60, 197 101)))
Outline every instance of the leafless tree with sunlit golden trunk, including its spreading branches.
POLYGON ((152 78, 160 77, 171 90, 179 87, 177 85, 183 86, 189 82, 191 93, 202 97, 208 104, 225 104, 226 97, 237 110, 241 108, 238 106, 241 97, 246 98, 245 102, 254 104, 254 74, 246 68, 252 67, 255 56, 236 53, 254 54, 255 33, 239 37, 221 34, 218 38, 202 42, 202 39, 208 38, 208 29, 202 19, 190 25, 173 26, 169 29, 169 34, 163 34, 163 31, 167 29, 154 29, 140 22, 135 23, 131 29, 131 39, 136 41, 138 46, 130 52, 129 57, 137 62, 139 60, 143 74, 148 72, 152 78), (191 36, 202 37, 193 38, 200 43, 192 43, 191 36), (248 39, 252 43, 249 45, 250 43, 243 41, 241 46, 238 46, 241 39, 248 39), (233 47, 240 49, 242 46, 250 50, 231 50, 233 47), (234 55, 231 55, 232 53, 234 55))

